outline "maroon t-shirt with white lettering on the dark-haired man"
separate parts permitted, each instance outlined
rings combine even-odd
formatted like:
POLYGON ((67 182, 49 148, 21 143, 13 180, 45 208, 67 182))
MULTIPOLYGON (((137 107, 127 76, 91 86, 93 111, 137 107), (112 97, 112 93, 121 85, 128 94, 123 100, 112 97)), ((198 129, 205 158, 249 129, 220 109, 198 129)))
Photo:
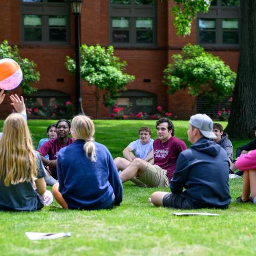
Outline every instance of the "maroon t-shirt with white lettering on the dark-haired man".
POLYGON ((185 142, 176 137, 170 137, 166 142, 157 139, 154 140, 153 148, 154 164, 167 170, 166 176, 170 181, 174 175, 179 154, 187 149, 185 142))

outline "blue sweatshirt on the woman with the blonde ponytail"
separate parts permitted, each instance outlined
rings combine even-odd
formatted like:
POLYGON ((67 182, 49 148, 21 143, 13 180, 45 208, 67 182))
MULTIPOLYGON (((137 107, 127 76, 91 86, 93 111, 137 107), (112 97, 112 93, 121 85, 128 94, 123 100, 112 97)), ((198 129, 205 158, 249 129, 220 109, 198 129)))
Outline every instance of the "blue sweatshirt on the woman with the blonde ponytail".
POLYGON ((94 144, 96 162, 84 154, 84 140, 76 140, 59 151, 59 191, 70 209, 96 210, 122 202, 123 186, 114 160, 108 148, 94 144))

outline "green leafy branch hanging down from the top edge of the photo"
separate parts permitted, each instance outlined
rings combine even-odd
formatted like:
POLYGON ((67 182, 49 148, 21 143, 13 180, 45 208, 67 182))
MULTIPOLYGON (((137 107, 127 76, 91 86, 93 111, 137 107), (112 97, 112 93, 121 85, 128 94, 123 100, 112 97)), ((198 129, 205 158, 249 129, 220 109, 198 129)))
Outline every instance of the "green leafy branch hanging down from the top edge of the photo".
POLYGON ((174 26, 178 35, 189 35, 191 24, 197 12, 208 12, 211 0, 174 0, 176 5, 172 8, 175 17, 174 26))

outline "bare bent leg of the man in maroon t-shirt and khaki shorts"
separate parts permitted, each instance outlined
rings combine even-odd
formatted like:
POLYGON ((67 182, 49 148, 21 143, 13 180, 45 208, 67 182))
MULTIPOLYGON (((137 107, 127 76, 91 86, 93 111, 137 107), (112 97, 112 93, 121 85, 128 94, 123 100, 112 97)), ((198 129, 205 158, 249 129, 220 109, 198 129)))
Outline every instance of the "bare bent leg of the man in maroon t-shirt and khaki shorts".
POLYGON ((141 174, 146 169, 147 162, 140 159, 135 158, 131 164, 125 168, 122 173, 120 174, 120 178, 122 180, 122 183, 131 180, 134 178, 137 174, 141 174))

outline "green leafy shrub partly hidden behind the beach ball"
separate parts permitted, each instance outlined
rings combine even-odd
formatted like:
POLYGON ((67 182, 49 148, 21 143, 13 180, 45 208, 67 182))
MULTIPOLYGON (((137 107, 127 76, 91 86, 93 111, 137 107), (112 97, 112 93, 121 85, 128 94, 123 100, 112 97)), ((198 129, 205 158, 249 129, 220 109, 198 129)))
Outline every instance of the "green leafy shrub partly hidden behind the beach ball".
POLYGON ((10 46, 7 40, 0 44, 0 59, 2 58, 11 58, 18 63, 23 73, 21 87, 24 94, 29 95, 37 91, 36 88, 30 86, 30 83, 40 80, 40 74, 36 70, 36 63, 34 61, 20 57, 18 47, 16 45, 10 46))

